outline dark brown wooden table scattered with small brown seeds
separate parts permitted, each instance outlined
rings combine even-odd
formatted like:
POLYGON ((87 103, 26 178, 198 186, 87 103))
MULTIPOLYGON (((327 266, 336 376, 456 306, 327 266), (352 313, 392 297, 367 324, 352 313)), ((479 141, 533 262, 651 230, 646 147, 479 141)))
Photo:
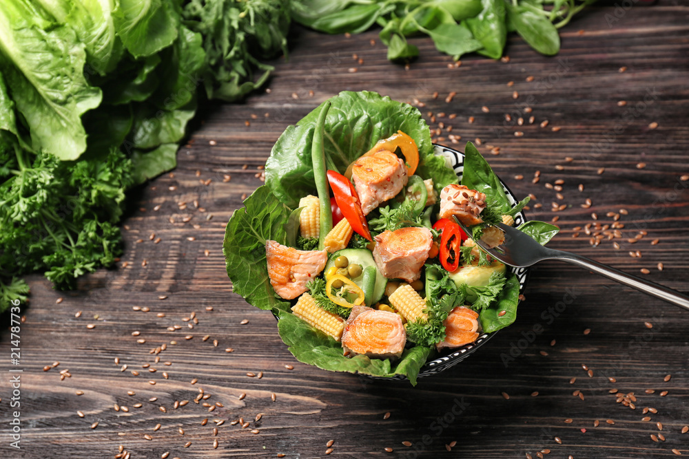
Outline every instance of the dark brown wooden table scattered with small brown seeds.
MULTIPOLYGON (((350 458, 535 458, 544 450, 552 458, 660 458, 673 448, 688 455, 686 310, 542 263, 515 324, 411 387, 296 362, 271 314, 232 293, 222 254, 225 224, 261 184, 282 130, 342 89, 369 89, 417 99, 435 114, 433 128, 444 122, 462 136, 460 147, 480 138, 511 189, 542 204, 528 216, 559 218, 554 248, 638 275, 645 268, 646 278, 689 290, 688 17, 686 3, 639 1, 617 11, 604 3, 562 30, 557 57, 511 36, 507 63, 471 56, 458 68, 423 38, 413 40, 421 56, 406 69, 386 61, 376 32, 345 39, 296 28, 269 94, 200 109, 178 168, 133 193, 118 268, 83 277, 74 292, 31 278, 20 450, 8 446, 10 337, 1 335, 3 456, 107 458, 123 445, 132 458, 313 458, 331 439, 332 455, 350 458), (533 111, 518 126, 515 111, 526 106, 533 111), (564 180, 562 199, 556 180, 564 180), (553 212, 552 202, 566 209, 553 212), (586 226, 608 228, 617 215, 621 237, 592 246, 586 226), (61 370, 71 376, 61 381, 61 370), (615 390, 633 392, 635 409, 615 403, 615 390), (194 403, 202 391, 210 397, 194 403), (248 427, 232 425, 239 418, 248 427)), ((453 145, 446 131, 437 137, 453 145)))

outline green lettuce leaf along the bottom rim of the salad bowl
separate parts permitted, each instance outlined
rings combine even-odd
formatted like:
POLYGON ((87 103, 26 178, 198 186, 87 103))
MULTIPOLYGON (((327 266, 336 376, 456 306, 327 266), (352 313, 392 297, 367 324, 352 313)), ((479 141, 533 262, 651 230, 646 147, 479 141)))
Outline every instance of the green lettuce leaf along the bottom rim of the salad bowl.
POLYGON ((369 359, 364 355, 345 357, 342 344, 285 310, 279 312, 278 332, 289 346, 289 352, 302 363, 316 365, 332 372, 369 374, 371 376, 395 376, 402 374, 416 385, 416 376, 433 350, 424 346, 404 350, 399 361, 369 359))

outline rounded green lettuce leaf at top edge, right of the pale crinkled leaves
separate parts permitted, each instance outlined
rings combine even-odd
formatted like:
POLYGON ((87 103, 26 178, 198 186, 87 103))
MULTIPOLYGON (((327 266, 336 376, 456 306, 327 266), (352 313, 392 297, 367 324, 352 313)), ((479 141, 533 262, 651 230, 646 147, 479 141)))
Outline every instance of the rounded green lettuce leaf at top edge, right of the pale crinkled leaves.
POLYGON ((175 4, 166 0, 119 0, 112 19, 117 35, 132 56, 150 56, 172 45, 180 23, 175 4))

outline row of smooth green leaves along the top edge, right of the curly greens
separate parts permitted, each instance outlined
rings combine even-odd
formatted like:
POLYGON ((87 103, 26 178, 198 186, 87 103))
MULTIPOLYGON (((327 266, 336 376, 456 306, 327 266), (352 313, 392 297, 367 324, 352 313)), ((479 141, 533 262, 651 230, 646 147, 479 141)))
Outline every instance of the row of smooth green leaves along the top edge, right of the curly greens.
POLYGON ((391 61, 418 56, 408 36, 426 34, 455 61, 478 52, 500 58, 508 32, 541 54, 557 54, 557 29, 595 0, 294 0, 292 17, 320 32, 353 34, 382 27, 391 61))

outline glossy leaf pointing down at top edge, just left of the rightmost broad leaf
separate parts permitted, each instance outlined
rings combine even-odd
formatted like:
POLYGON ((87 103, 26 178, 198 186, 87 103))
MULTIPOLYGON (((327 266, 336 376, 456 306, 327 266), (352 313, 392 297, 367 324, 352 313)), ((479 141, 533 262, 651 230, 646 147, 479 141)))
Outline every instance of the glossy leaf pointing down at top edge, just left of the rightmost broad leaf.
POLYGON ((479 53, 499 59, 507 40, 504 1, 482 0, 481 4, 483 10, 476 17, 466 19, 464 23, 474 38, 483 45, 479 53))

